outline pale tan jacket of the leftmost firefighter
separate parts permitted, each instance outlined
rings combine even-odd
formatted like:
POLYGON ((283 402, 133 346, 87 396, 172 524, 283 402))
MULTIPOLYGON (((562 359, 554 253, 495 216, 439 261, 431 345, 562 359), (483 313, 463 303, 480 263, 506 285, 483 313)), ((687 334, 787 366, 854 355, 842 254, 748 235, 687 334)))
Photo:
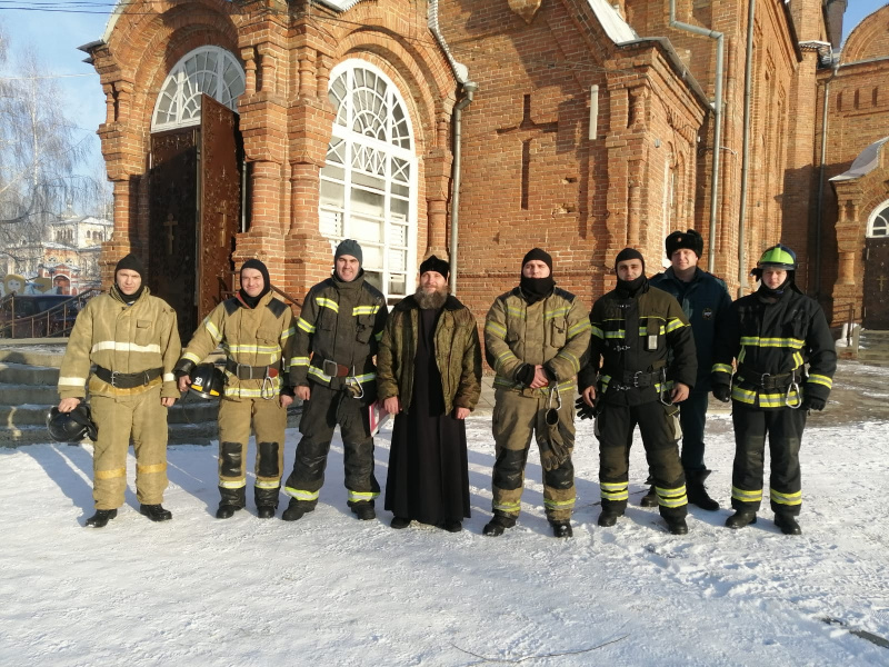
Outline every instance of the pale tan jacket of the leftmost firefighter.
POLYGON ((179 398, 173 366, 182 350, 176 311, 148 287, 128 306, 117 289, 91 299, 77 316, 59 370, 59 396, 134 396, 162 385, 161 398, 179 398), (148 384, 122 389, 90 376, 90 365, 119 374, 160 369, 148 384))

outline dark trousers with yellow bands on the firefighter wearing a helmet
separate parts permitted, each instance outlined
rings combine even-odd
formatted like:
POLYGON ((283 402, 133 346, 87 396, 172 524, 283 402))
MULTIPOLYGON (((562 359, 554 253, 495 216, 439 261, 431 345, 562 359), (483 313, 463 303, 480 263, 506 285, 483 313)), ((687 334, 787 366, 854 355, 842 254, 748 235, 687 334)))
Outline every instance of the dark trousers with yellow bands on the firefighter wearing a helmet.
POLYGON ((802 478, 799 449, 806 410, 778 408, 761 410, 732 401, 735 466, 731 472, 731 506, 758 511, 762 502, 766 436, 769 438, 771 475, 769 496, 776 514, 799 516, 802 508, 802 478))

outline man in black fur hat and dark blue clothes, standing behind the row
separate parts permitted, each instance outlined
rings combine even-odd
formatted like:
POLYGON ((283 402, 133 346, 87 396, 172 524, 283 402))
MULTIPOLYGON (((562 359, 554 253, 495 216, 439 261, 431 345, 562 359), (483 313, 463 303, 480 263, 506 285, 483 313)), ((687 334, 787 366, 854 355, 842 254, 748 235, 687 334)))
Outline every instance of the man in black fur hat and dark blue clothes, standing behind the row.
MULTIPOLYGON (((670 268, 651 279, 651 287, 662 289, 682 306, 695 335, 698 354, 698 377, 695 389, 679 406, 682 427, 682 469, 686 471, 688 501, 701 509, 715 511, 719 502, 707 492, 703 481, 710 470, 703 462, 703 428, 710 398, 710 368, 713 365, 716 322, 728 312, 731 297, 725 281, 698 268, 703 252, 703 239, 693 229, 675 231, 665 240, 670 268)), ((642 497, 643 507, 658 504, 655 487, 642 497)))

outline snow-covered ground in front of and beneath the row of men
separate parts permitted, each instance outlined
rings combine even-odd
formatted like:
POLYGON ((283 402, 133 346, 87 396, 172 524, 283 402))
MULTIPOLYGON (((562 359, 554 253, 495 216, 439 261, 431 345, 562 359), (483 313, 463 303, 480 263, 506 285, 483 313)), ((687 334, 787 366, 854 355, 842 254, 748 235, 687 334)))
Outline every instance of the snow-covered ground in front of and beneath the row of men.
MULTIPOLYGON (((472 518, 455 535, 396 531, 383 511, 354 519, 338 439, 319 507, 298 522, 257 519, 252 499, 217 520, 216 448, 177 446, 164 500, 173 520, 139 515, 131 458, 127 502, 101 530, 82 527, 90 448, 0 450, 0 665, 889 665, 889 421, 830 409, 806 431, 796 538, 768 507, 755 526, 723 527, 728 415, 711 417, 707 456, 723 509, 691 508, 682 537, 637 505, 639 442, 627 517, 596 526, 589 422, 579 424, 568 540, 550 537, 533 452, 519 525, 481 535, 486 417, 468 421, 472 518)), ((380 482, 390 436, 377 438, 380 482)), ((288 431, 287 470, 298 437, 288 431)))

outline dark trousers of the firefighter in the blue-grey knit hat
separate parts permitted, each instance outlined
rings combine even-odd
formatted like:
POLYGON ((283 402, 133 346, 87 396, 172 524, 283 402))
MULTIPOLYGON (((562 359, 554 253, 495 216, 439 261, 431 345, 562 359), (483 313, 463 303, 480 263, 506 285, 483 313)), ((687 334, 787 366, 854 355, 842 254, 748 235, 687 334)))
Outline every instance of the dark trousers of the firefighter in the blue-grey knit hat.
POLYGON ((340 427, 342 437, 346 489, 349 506, 373 504, 380 485, 373 476, 373 437, 368 422, 368 404, 352 398, 347 391, 311 385, 311 399, 302 405, 293 471, 287 478, 284 491, 291 498, 313 508, 324 485, 327 457, 333 430, 340 427))

